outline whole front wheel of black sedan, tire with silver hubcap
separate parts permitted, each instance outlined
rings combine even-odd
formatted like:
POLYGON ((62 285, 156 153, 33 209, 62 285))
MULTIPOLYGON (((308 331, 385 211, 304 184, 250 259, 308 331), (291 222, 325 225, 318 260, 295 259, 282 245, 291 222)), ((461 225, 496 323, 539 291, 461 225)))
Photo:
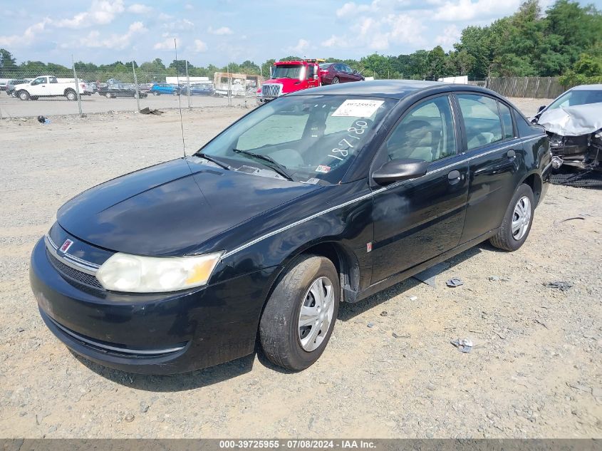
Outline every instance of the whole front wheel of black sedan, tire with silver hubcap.
POLYGON ((303 370, 322 355, 338 314, 341 288, 332 261, 301 256, 276 285, 259 323, 270 361, 303 370))

